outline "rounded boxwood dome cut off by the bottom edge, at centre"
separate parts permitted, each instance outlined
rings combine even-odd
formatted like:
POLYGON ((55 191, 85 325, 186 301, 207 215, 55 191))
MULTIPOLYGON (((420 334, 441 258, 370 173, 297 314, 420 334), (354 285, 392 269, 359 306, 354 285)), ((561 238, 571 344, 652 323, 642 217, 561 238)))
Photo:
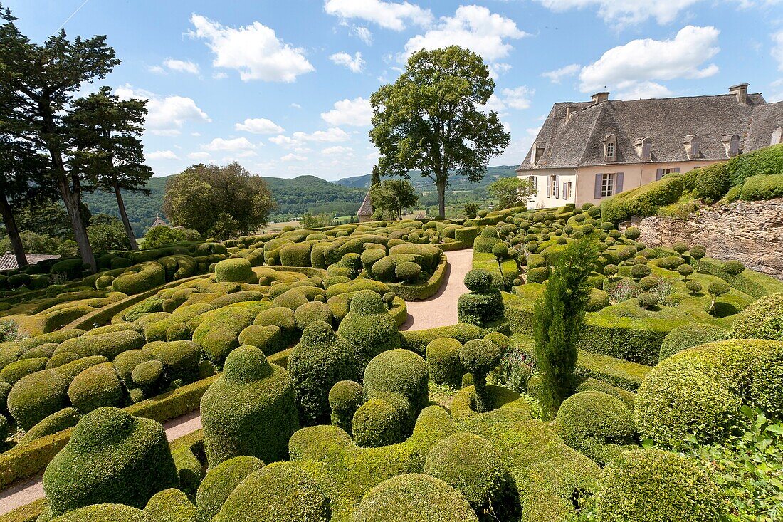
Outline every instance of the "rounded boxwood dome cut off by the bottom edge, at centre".
POLYGON ((471 505, 443 480, 420 473, 397 475, 371 489, 353 522, 478 522, 471 505))

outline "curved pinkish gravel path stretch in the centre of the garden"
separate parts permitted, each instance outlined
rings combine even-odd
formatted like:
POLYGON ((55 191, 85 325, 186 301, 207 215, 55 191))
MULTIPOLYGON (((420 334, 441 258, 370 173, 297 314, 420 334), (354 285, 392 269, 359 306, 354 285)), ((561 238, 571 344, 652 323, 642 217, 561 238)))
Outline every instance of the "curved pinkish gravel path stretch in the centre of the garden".
POLYGON ((408 321, 401 330, 426 330, 438 326, 456 324, 456 300, 467 293, 465 274, 473 267, 473 248, 446 252, 449 266, 446 279, 438 293, 424 301, 410 301, 408 321))

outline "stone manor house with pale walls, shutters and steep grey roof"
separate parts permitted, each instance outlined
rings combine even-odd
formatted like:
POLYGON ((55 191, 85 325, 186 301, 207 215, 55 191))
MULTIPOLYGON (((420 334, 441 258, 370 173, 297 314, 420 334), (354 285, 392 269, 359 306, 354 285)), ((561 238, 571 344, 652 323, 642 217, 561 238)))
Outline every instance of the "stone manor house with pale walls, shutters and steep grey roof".
POLYGON ((604 198, 742 152, 783 143, 783 102, 767 103, 749 84, 728 94, 659 100, 555 103, 520 178, 537 194, 530 208, 601 203, 604 198))

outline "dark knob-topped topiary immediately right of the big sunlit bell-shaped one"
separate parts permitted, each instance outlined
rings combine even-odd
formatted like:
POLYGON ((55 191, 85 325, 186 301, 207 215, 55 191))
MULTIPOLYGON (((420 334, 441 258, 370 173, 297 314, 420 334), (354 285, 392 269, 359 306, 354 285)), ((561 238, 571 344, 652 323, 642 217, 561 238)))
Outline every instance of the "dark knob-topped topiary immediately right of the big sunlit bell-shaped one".
POLYGON ((323 321, 312 322, 302 332, 300 343, 288 357, 288 371, 301 419, 307 424, 327 422, 332 386, 356 375, 351 346, 323 321))

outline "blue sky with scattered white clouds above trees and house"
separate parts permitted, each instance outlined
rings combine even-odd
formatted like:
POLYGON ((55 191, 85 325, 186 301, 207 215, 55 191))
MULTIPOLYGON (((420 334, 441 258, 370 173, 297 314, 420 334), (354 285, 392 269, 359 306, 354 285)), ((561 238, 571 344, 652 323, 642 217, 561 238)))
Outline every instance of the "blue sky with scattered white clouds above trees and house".
MULTIPOLYGON (((336 180, 377 161, 370 96, 418 49, 463 45, 496 82, 516 165, 553 103, 700 96, 750 83, 783 100, 783 0, 6 0, 43 42, 106 34, 100 85, 149 100, 155 176, 239 161, 261 176, 336 180)), ((97 90, 90 85, 84 92, 97 90)))

